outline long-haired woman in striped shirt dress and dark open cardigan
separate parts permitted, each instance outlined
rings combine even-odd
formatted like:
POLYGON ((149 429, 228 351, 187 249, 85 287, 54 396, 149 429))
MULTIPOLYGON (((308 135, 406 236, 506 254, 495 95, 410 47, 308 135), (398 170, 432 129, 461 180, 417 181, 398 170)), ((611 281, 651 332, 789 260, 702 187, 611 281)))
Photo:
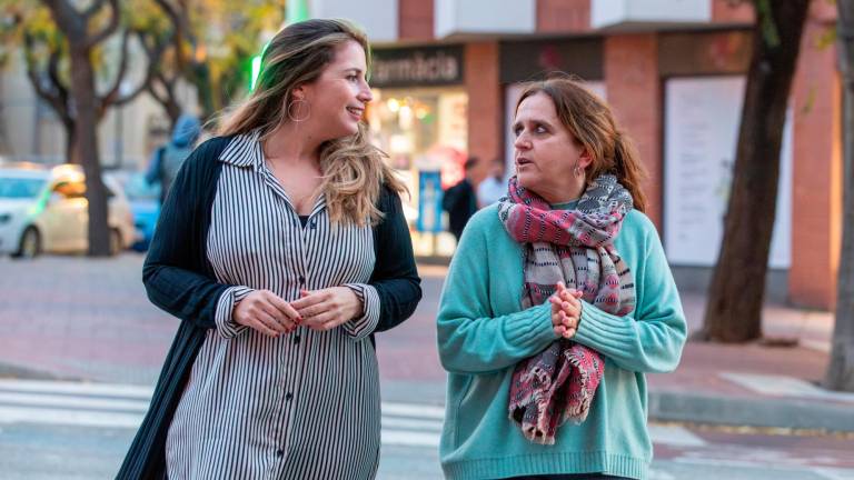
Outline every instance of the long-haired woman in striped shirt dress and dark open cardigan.
POLYGON ((367 51, 345 21, 288 26, 179 172, 143 281, 181 323, 120 479, 376 474, 373 333, 421 290, 405 188, 361 122, 367 51))

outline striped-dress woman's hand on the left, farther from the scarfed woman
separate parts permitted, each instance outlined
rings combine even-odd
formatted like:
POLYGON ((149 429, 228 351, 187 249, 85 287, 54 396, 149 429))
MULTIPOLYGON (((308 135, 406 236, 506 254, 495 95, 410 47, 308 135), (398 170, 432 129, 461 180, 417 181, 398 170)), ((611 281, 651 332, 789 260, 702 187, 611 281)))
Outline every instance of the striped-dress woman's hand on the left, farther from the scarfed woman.
POLYGON ((302 318, 290 303, 269 290, 256 290, 235 307, 235 322, 269 336, 292 332, 302 318))

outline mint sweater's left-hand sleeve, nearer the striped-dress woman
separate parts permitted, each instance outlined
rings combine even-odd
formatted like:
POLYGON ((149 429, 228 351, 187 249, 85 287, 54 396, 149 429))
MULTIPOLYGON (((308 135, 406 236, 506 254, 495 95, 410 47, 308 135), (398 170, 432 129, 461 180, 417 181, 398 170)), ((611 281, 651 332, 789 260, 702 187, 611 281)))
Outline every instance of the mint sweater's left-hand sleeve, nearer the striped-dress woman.
POLYGON ((500 276, 502 267, 488 262, 483 213, 463 232, 439 303, 439 359, 451 373, 502 370, 539 353, 556 339, 548 302, 509 314, 493 313, 489 278, 500 276))

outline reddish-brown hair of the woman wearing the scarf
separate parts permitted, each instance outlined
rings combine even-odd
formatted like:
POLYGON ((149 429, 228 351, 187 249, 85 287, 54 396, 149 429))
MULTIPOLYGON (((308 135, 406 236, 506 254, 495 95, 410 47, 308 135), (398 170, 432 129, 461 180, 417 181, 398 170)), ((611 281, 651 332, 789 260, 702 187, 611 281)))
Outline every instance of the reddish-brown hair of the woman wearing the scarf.
POLYGON ((555 103, 560 123, 569 130, 576 144, 589 152, 592 162, 586 169, 586 181, 603 173, 615 174, 632 193, 635 209, 645 211, 646 196, 640 186, 646 177, 644 168, 634 143, 617 128, 607 103, 590 93, 580 81, 556 77, 528 83, 516 109, 523 100, 540 92, 555 103))

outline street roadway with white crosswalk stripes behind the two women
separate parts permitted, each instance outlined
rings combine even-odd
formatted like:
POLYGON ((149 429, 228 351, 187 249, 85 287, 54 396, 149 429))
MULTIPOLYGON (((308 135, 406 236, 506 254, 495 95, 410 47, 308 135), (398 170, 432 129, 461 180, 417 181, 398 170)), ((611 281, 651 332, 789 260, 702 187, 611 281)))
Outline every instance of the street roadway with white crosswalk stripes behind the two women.
MULTIPOLYGON (((0 470, 9 480, 115 476, 147 407, 138 386, 0 381, 0 470)), ((440 408, 384 403, 379 479, 441 478, 440 408)), ((854 479, 854 437, 651 426, 651 479, 854 479)))

